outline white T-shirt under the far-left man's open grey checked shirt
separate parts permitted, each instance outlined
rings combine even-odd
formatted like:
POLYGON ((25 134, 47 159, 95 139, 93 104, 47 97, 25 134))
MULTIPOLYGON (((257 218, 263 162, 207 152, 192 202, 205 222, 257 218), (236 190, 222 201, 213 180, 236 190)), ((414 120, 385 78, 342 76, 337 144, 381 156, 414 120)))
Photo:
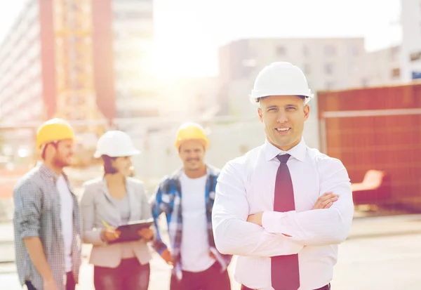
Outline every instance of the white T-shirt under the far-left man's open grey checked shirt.
POLYGON ((60 193, 60 220, 62 235, 65 241, 65 269, 72 271, 72 241, 73 241, 73 197, 64 176, 57 179, 57 189, 60 193))

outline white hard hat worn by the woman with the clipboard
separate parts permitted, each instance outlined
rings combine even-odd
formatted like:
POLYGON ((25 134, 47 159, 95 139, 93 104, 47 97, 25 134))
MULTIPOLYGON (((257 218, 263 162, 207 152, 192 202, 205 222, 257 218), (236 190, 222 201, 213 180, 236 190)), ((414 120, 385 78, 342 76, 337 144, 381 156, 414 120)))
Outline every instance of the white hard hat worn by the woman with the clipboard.
POLYGON ((108 131, 100 137, 97 143, 97 150, 93 155, 99 158, 102 155, 109 157, 126 157, 139 154, 133 141, 127 133, 122 131, 108 131))

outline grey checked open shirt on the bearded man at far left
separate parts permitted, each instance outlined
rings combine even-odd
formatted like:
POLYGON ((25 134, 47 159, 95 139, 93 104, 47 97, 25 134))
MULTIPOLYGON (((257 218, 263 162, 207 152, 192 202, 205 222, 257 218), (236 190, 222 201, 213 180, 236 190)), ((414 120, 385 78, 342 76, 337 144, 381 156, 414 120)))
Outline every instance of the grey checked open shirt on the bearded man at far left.
MULTIPOLYGON (((66 180, 67 177, 65 176, 66 180)), ((60 220, 60 195, 56 186, 57 176, 44 164, 39 164, 21 178, 13 191, 15 212, 16 266, 20 283, 31 282, 36 289, 43 289, 43 279, 36 270, 23 239, 39 237, 48 265, 59 290, 65 290, 65 245, 60 220)), ((67 183, 69 186, 69 184, 67 183)), ((69 190, 71 187, 69 186, 69 190)), ((72 272, 77 283, 81 265, 81 218, 76 196, 73 197, 72 272)))

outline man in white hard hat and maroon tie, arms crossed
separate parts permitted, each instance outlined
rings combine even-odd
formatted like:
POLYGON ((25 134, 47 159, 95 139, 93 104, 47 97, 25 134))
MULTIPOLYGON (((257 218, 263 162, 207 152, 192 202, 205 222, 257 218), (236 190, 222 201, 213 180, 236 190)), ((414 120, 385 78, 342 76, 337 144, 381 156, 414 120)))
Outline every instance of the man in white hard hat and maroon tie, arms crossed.
POLYGON ((298 67, 265 67, 250 100, 267 140, 228 162, 218 178, 215 244, 239 256, 235 277, 242 289, 330 289, 354 205, 342 162, 302 138, 312 98, 298 67))

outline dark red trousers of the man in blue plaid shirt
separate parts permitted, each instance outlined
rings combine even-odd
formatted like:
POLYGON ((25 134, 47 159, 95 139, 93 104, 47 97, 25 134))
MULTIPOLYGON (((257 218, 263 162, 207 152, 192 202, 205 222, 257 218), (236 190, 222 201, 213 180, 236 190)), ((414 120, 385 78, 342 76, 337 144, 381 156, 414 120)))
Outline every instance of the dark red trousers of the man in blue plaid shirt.
POLYGON ((221 272, 220 263, 216 262, 203 272, 182 271, 182 279, 171 276, 170 290, 231 290, 228 271, 221 272))

